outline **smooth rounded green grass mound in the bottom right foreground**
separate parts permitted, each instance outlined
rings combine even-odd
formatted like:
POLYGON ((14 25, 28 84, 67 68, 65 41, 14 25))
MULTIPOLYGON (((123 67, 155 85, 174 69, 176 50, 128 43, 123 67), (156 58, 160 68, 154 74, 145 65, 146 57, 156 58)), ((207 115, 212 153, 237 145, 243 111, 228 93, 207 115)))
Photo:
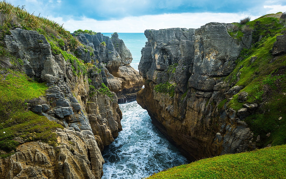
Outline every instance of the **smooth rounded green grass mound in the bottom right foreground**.
POLYGON ((227 154, 173 167, 148 179, 285 178, 286 145, 227 154))

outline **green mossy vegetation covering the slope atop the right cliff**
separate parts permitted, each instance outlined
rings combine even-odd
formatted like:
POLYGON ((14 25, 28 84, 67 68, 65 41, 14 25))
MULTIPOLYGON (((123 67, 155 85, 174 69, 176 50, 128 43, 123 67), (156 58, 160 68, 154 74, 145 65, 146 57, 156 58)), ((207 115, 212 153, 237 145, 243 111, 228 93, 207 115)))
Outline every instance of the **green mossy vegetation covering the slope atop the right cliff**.
MULTIPOLYGON (((259 104, 259 109, 249 115, 245 122, 260 136, 258 147, 268 144, 286 144, 286 55, 273 56, 272 47, 277 35, 286 32, 285 21, 275 17, 261 17, 246 22, 253 29, 253 45, 243 49, 236 61, 234 71, 226 78, 232 86, 242 86, 247 92, 244 103, 259 104), (271 134, 270 137, 267 134, 271 134)), ((243 108, 238 100, 239 93, 230 100, 228 107, 243 108)))

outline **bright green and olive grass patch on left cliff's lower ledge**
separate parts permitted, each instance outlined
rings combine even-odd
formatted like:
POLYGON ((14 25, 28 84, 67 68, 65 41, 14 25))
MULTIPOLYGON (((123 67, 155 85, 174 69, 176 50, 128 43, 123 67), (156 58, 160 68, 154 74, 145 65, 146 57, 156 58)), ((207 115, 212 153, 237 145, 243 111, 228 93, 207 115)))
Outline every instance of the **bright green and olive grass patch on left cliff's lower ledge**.
POLYGON ((44 116, 26 111, 29 100, 45 95, 46 85, 13 70, 6 70, 0 79, 0 149, 6 152, 14 150, 19 145, 13 140, 15 137, 55 144, 56 134, 52 131, 63 127, 44 116))

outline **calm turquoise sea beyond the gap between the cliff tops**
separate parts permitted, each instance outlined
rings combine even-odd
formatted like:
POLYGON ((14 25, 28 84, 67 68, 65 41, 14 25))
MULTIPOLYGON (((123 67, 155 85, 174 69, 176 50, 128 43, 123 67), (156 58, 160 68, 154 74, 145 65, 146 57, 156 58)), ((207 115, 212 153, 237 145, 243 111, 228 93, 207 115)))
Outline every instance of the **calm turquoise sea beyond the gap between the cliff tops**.
MULTIPOLYGON (((113 33, 102 33, 105 36, 111 37, 113 33)), ((126 45, 126 47, 132 53, 132 66, 134 69, 138 71, 138 65, 141 58, 141 50, 142 47, 145 46, 145 42, 147 42, 147 38, 144 33, 118 33, 118 38, 122 39, 126 45)))

